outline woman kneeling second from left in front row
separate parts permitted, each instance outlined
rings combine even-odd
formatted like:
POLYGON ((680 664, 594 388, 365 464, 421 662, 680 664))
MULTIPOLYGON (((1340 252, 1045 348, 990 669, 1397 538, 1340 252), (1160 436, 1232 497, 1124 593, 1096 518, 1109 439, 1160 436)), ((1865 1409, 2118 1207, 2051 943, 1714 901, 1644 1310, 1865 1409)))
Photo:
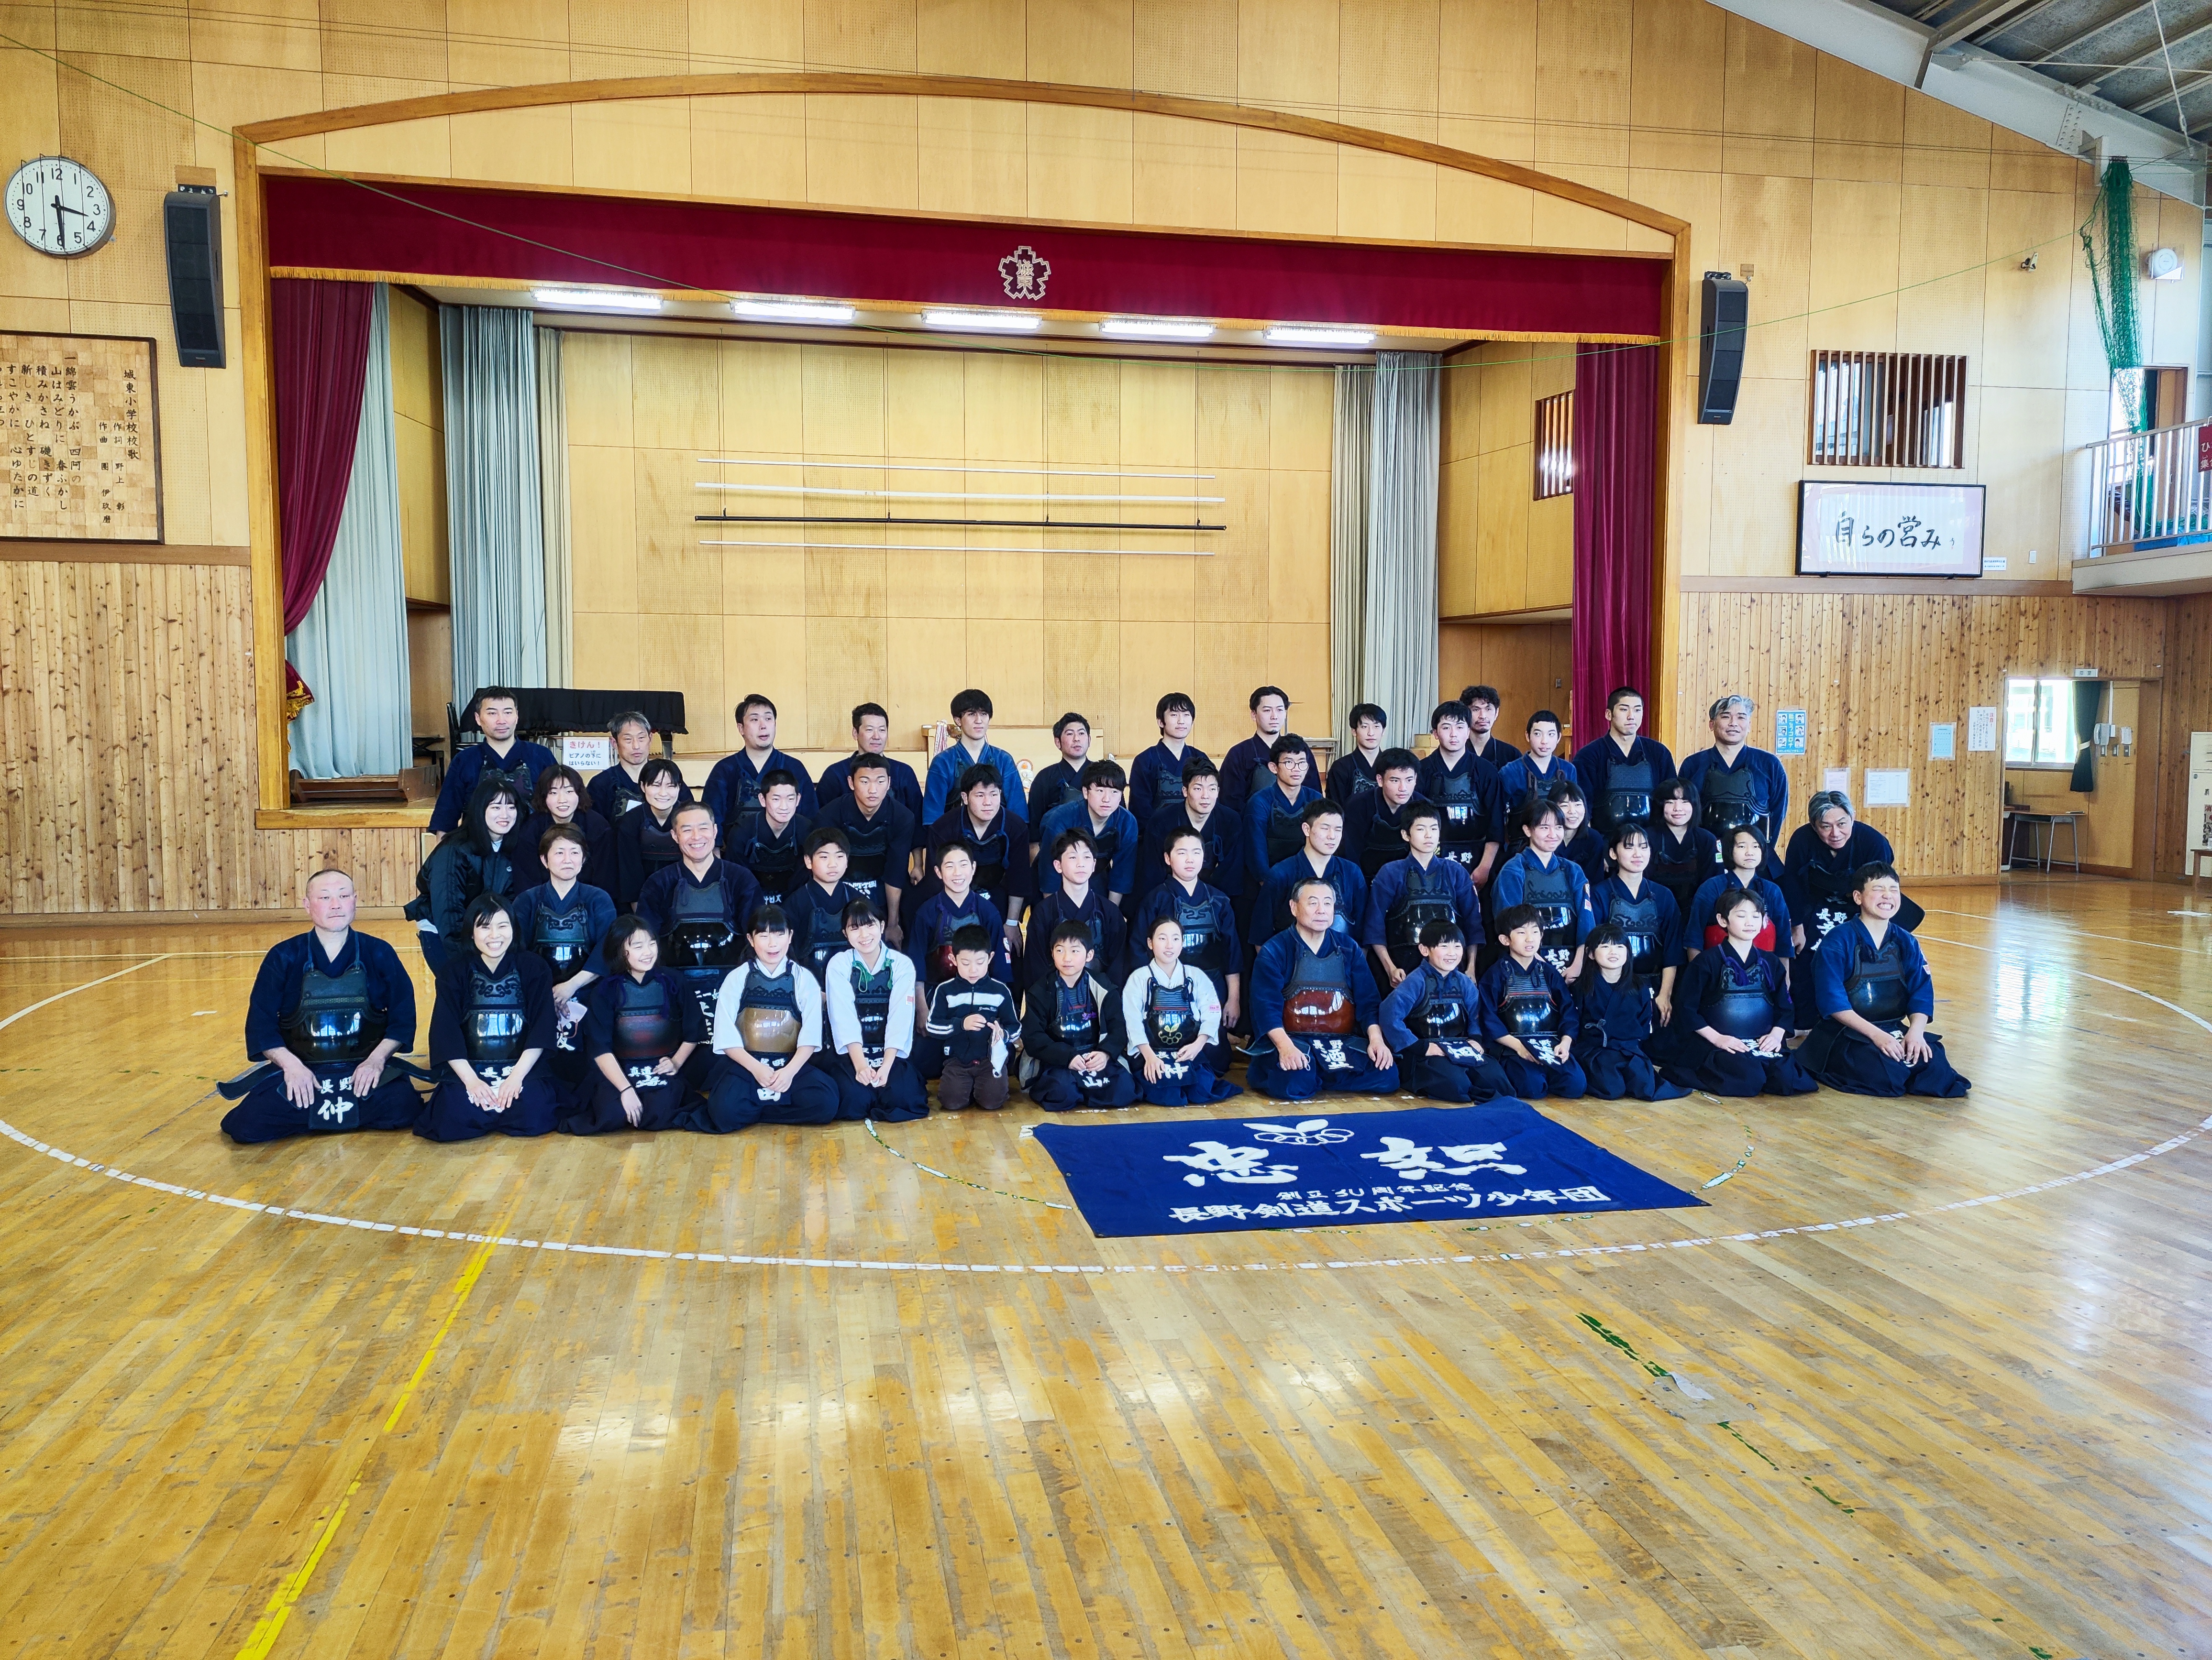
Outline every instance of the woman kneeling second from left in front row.
POLYGON ((480 893, 469 944, 438 970, 429 1012, 429 1065, 438 1079, 416 1134, 425 1141, 546 1136, 560 1096, 546 1079, 553 1048, 553 970, 515 942, 507 900, 480 893))

